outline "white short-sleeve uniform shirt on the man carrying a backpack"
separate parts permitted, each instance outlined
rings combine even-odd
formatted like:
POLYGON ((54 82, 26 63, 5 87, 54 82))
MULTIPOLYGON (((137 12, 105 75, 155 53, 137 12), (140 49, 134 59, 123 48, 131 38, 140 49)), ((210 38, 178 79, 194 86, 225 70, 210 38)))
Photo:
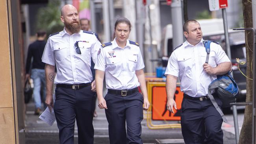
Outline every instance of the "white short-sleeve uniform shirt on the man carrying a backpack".
MULTIPOLYGON (((211 42, 210 50, 208 64, 211 67, 230 62, 219 44, 211 42)), ((203 64, 206 61, 206 55, 203 39, 195 46, 186 41, 171 54, 165 75, 179 77, 180 89, 185 94, 193 97, 206 96, 209 84, 217 78, 204 71, 203 64)))

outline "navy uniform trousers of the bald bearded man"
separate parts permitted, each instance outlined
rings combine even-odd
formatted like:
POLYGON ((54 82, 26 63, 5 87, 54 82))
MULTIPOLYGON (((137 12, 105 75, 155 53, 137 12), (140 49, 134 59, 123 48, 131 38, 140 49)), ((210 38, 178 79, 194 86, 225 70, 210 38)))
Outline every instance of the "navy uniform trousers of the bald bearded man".
POLYGON ((74 143, 74 124, 78 127, 78 144, 93 144, 95 92, 91 86, 82 89, 56 87, 54 114, 59 128, 60 144, 74 143))

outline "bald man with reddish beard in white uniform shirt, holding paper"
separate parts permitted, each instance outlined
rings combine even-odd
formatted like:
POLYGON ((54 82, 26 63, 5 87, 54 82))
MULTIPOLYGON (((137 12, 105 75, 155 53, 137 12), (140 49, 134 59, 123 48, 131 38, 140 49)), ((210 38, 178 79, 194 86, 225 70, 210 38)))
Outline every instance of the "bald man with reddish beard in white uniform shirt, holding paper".
POLYGON ((63 6, 60 19, 64 29, 49 36, 42 57, 46 63, 45 103, 50 110, 54 109, 61 144, 74 143, 75 120, 78 143, 93 144, 96 88, 90 67, 91 58, 96 61, 101 44, 95 33, 81 30, 78 11, 74 6, 63 6), (56 84, 55 103, 52 98, 53 84, 56 84))

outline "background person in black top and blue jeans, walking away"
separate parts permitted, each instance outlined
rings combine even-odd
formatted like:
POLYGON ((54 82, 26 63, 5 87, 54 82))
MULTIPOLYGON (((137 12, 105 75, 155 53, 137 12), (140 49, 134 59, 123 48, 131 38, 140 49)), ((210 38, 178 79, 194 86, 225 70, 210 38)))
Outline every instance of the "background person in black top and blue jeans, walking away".
MULTIPOLYGON (((41 98, 45 101, 46 96, 46 85, 45 85, 45 63, 41 61, 41 57, 43 55, 45 49, 45 38, 46 32, 40 30, 36 33, 37 40, 28 46, 28 55, 26 61, 26 79, 32 78, 34 89, 33 89, 33 97, 35 103, 35 113, 39 115, 41 112, 41 98), (32 62, 32 70, 30 75, 31 61, 32 62), (41 88, 42 87, 42 88, 41 88), (42 96, 41 91, 42 90, 42 96)), ((44 108, 46 109, 47 105, 44 103, 44 108)))

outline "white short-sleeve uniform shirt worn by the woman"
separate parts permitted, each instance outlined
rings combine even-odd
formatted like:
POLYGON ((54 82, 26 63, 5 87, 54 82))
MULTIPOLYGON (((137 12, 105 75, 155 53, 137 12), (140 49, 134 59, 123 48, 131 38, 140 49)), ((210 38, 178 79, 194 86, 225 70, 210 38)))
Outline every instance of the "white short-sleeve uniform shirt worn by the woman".
POLYGON ((112 41, 108 46, 103 46, 95 69, 105 72, 106 88, 126 90, 139 87, 135 70, 143 69, 144 63, 139 46, 126 41, 126 46, 121 48, 117 42, 112 41))

